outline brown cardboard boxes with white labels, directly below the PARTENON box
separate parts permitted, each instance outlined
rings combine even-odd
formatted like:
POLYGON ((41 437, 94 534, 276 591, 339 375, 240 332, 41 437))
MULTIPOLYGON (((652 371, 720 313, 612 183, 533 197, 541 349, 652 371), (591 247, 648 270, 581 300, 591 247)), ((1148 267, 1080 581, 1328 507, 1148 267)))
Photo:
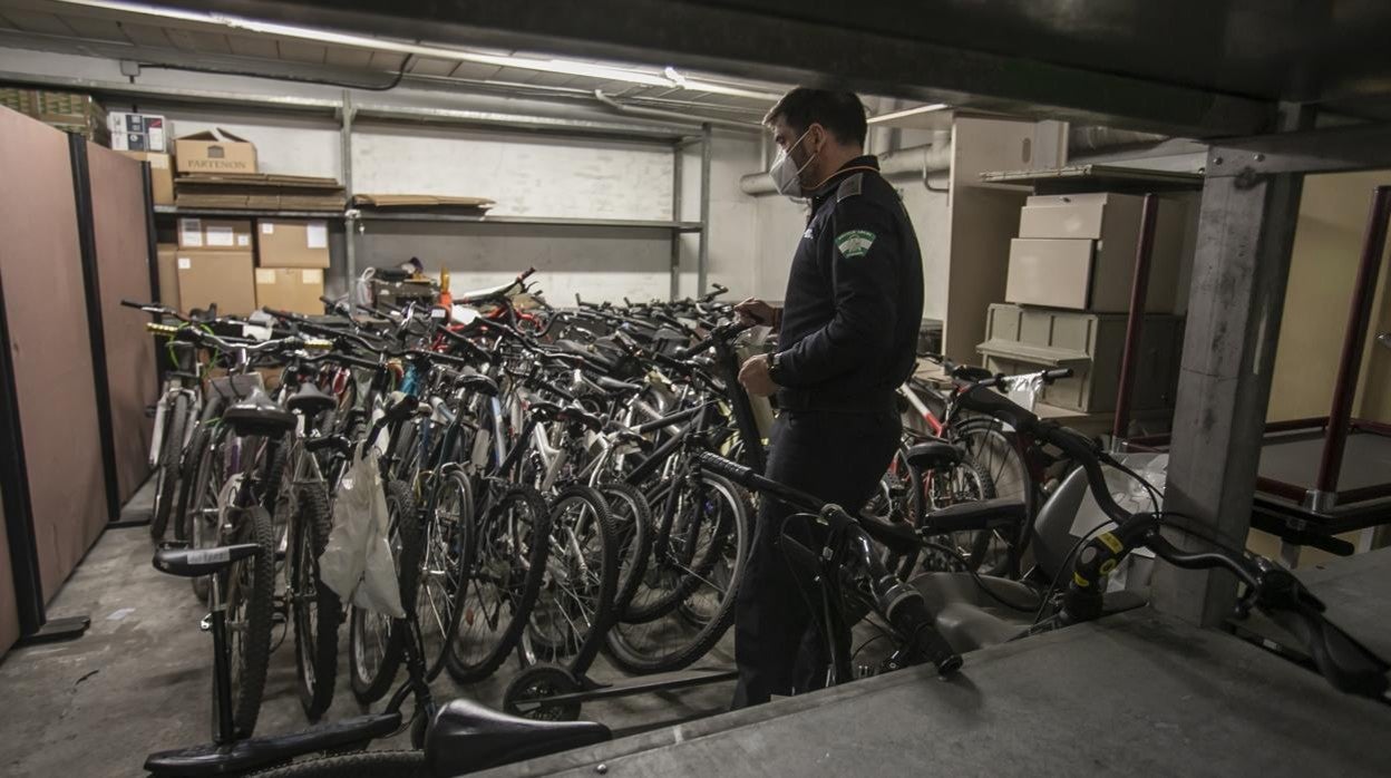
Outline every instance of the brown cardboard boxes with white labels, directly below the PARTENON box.
POLYGON ((217 303, 223 315, 246 316, 256 309, 252 269, 252 223, 236 219, 179 219, 178 303, 192 308, 217 303))

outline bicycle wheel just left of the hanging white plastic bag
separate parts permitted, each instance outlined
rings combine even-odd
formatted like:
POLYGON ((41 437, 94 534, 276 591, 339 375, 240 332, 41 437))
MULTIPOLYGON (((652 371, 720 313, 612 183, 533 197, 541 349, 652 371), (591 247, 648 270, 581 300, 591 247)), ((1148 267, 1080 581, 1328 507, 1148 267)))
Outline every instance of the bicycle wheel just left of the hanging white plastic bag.
POLYGON ((299 704, 310 721, 328 710, 338 676, 338 625, 342 605, 338 594, 319 578, 319 555, 328 546, 332 515, 328 491, 321 483, 305 483, 295 490, 291 519, 289 601, 295 618, 295 672, 299 704))

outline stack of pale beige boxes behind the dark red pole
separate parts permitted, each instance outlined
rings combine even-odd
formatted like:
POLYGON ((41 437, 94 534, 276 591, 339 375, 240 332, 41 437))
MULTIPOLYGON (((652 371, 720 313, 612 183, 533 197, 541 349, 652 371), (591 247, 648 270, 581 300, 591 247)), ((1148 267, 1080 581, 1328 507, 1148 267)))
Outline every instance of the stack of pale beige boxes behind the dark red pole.
MULTIPOLYGON (((1010 242, 1004 299, 989 309, 985 367, 1007 374, 1071 367, 1042 390, 1070 411, 1114 409, 1143 198, 1118 192, 1035 195, 1010 242)), ((1192 230, 1188 195, 1159 200, 1134 405, 1174 402, 1182 319, 1178 278, 1192 230)))

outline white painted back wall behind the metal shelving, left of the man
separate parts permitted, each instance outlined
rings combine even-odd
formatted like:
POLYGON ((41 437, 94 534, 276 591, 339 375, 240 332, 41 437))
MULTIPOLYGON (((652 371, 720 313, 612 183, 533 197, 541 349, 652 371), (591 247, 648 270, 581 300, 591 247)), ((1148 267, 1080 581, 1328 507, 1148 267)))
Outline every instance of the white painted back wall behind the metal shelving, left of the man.
MULTIPOLYGON (((124 81, 114 60, 0 49, 0 71, 124 81)), ((216 92, 289 95, 337 100, 342 90, 243 77, 147 70, 140 84, 216 92)), ((444 92, 355 93, 359 102, 426 107, 484 107, 480 97, 444 92)), ((509 100, 509 111, 561 116, 573 109, 509 100)), ((275 114, 256 109, 138 106, 107 100, 108 109, 161 113, 175 135, 221 127, 257 146, 262 170, 342 177, 338 122, 327 116, 275 114)), ((497 110, 497 104, 488 104, 497 110)), ((593 118, 625 121, 601 109, 593 118)), ((492 198, 502 216, 641 219, 672 217, 673 150, 643 141, 615 142, 444 125, 359 120, 353 134, 356 192, 440 193, 492 198)), ((754 135, 716 131, 711 164, 709 280, 748 296, 758 266, 758 203, 739 189, 739 177, 758 167, 754 135)), ((700 152, 683 154, 682 219, 700 219, 700 152)), ((492 285, 529 266, 554 302, 666 298, 670 239, 658 230, 598 230, 473 224, 370 223, 359 238, 359 267, 419 256, 428 269, 449 267, 452 288, 492 285)), ((800 234, 800 231, 798 231, 800 234)), ((335 245, 338 245, 335 242, 335 245)), ((696 294, 698 238, 680 239, 683 295, 696 294)), ((335 252, 330 278, 341 270, 335 252)), ((780 291, 778 294, 780 296, 780 291)))

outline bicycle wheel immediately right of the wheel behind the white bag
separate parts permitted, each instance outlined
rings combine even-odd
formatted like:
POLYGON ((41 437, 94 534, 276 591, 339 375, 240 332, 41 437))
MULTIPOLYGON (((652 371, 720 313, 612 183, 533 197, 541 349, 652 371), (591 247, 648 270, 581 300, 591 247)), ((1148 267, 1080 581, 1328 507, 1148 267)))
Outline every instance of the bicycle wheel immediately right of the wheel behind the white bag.
POLYGON ((473 551, 473 483, 459 470, 449 470, 434 493, 420 562, 416 614, 424 650, 426 675, 434 679, 444 668, 462 571, 473 551))

